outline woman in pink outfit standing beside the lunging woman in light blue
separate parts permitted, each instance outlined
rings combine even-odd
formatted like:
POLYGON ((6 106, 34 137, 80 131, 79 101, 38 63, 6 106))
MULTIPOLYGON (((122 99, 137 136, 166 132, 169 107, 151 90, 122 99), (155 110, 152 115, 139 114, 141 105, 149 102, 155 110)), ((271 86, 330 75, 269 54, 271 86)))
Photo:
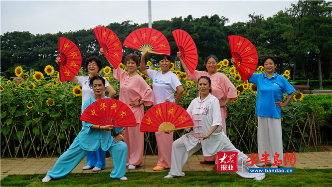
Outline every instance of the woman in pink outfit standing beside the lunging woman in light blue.
MULTIPOLYGON (((103 53, 103 49, 100 49, 103 53)), ((125 71, 120 67, 114 68, 113 77, 120 81, 119 100, 128 105, 136 118, 136 127, 126 127, 124 131, 124 142, 128 147, 128 169, 135 170, 143 164, 144 133, 140 132, 141 120, 144 116, 144 107, 154 103, 154 94, 147 82, 137 73, 139 58, 136 54, 126 56, 124 64, 125 71)))

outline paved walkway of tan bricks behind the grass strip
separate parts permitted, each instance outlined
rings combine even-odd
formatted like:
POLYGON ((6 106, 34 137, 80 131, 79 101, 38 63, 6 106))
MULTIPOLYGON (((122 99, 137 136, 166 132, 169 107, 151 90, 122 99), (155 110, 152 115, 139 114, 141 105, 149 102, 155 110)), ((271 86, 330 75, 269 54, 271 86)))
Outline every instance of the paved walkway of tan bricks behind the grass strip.
MULTIPOLYGON (((284 154, 285 156, 285 154, 284 154)), ((287 168, 301 168, 301 169, 332 169, 332 152, 311 152, 311 153, 295 153, 296 163, 292 167, 287 168)), ((0 179, 8 175, 38 175, 46 174, 51 170, 58 160, 54 158, 43 159, 1 159, 0 160, 0 179)), ((189 157, 187 163, 182 171, 211 171, 214 165, 201 165, 200 161, 203 160, 202 155, 193 155, 189 157)), ((158 162, 158 156, 145 156, 143 160, 143 167, 137 168, 133 171, 155 172, 153 168, 158 162)), ((72 173, 93 173, 91 170, 83 171, 82 167, 86 166, 86 160, 83 159, 80 164, 72 171, 72 173)), ((110 172, 113 169, 112 158, 106 158, 106 169, 104 172, 110 172)), ((128 171, 127 172, 133 172, 128 171)))

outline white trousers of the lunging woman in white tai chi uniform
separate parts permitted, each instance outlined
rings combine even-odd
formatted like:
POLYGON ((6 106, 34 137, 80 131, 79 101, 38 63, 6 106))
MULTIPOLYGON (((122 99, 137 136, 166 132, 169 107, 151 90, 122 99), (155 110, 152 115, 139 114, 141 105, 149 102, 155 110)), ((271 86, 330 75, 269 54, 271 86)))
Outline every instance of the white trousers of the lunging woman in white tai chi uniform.
MULTIPOLYGON (((246 163, 246 161, 249 161, 250 159, 248 159, 248 157, 245 154, 236 149, 224 133, 221 134, 222 134, 221 138, 223 139, 224 148, 220 151, 224 152, 236 151, 238 153, 238 172, 236 173, 239 176, 248 179, 254 179, 259 176, 265 176, 264 173, 258 173, 258 174, 249 173, 248 168, 258 168, 258 167, 256 165, 248 166, 249 164, 251 164, 251 162, 246 163), (243 160, 243 165, 242 165, 242 160, 243 160)), ((175 140, 175 142, 173 142, 172 145, 172 155, 171 155, 172 162, 168 174, 172 176, 184 176, 184 173, 182 172, 183 166, 187 162, 188 158, 192 154, 197 152, 201 147, 202 147, 201 144, 198 143, 194 148, 187 151, 183 143, 182 137, 175 140)))

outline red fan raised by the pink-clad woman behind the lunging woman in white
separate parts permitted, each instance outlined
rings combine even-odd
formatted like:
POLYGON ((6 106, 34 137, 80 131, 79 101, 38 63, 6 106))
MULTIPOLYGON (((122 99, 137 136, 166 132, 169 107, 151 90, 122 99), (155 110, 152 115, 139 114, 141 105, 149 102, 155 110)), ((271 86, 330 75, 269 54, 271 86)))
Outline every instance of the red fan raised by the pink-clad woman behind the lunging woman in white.
POLYGON ((189 69, 191 73, 194 73, 198 55, 195 42, 190 35, 181 29, 172 31, 178 50, 181 52, 181 59, 189 69))

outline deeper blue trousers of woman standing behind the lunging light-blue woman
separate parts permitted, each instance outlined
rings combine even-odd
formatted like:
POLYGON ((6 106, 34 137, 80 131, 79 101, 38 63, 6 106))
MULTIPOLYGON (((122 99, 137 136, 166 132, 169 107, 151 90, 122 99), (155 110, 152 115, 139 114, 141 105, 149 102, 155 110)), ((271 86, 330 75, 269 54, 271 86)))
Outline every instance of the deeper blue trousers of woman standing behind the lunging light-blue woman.
POLYGON ((86 165, 105 169, 106 166, 106 151, 98 149, 92 151, 86 156, 86 165))

